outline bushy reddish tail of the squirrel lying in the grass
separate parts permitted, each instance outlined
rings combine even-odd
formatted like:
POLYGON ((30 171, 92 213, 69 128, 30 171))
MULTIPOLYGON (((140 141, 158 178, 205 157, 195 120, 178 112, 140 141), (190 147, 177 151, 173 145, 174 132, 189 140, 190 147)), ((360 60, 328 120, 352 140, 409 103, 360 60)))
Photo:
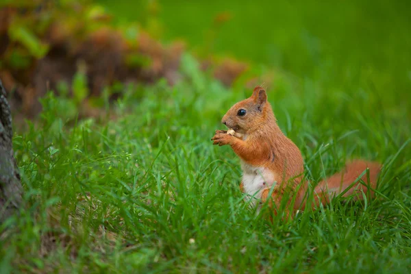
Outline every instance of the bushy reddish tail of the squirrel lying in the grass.
POLYGON ((366 194, 368 191, 373 197, 373 189, 375 189, 377 177, 381 169, 382 164, 378 162, 366 162, 363 160, 353 160, 349 162, 343 171, 328 177, 314 188, 316 205, 319 205, 319 201, 321 201, 323 205, 329 203, 333 197, 345 192, 354 182, 356 182, 356 184, 353 184, 353 186, 343 194, 343 197, 353 195, 356 198, 362 199, 362 192, 366 194), (369 168, 369 179, 367 173, 364 173, 366 168, 369 168), (364 175, 362 175, 361 179, 366 185, 369 184, 369 186, 371 186, 370 190, 368 190, 367 186, 361 184, 360 179, 358 179, 362 173, 364 173, 364 175))

